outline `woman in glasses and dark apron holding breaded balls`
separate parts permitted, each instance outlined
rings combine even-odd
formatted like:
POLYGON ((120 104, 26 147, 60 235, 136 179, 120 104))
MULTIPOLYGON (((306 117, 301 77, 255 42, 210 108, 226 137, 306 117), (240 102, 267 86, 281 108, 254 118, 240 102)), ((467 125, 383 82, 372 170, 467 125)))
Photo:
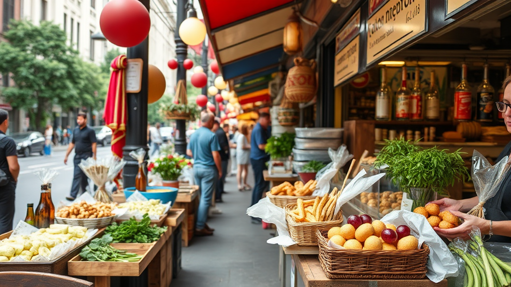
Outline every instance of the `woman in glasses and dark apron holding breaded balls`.
MULTIPOLYGON (((511 77, 507 77, 502 85, 504 98, 502 102, 495 103, 499 112, 502 113, 507 131, 511 133, 511 77)), ((511 155, 511 141, 497 158, 497 162, 506 155, 511 155)), ((470 239, 469 233, 472 226, 477 226, 488 241, 511 243, 511 174, 504 178, 497 194, 484 204, 484 219, 466 214, 479 203, 477 197, 453 200, 449 198, 433 201, 440 206, 440 211, 450 210, 455 216, 464 222, 458 227, 451 229, 439 229, 435 231, 444 237, 454 239, 461 237, 470 239)))

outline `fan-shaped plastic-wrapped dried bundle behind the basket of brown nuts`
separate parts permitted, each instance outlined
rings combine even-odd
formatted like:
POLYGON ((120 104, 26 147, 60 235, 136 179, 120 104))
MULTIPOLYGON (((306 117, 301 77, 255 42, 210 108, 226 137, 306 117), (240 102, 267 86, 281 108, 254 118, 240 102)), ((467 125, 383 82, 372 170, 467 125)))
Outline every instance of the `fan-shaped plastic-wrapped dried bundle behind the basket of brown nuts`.
POLYGON ((125 164, 126 161, 114 157, 100 158, 98 160, 89 157, 82 159, 78 166, 98 186, 94 198, 104 203, 111 203, 113 201, 112 195, 107 192, 105 183, 117 176, 125 164))

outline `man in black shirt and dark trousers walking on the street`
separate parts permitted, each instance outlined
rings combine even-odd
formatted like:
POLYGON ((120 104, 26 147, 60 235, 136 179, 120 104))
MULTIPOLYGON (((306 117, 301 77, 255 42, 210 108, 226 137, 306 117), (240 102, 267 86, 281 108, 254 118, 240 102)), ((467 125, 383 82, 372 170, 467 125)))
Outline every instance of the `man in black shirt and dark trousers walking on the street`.
POLYGON ((66 197, 67 200, 75 200, 80 192, 80 187, 83 193, 88 184, 87 176, 78 164, 80 164, 82 159, 89 157, 96 159, 96 133, 87 126, 87 114, 83 112, 78 113, 76 122, 78 127, 73 131, 73 139, 69 143, 64 158, 64 164, 67 164, 67 157, 75 148, 75 175, 73 177, 73 185, 71 186, 71 195, 66 197))

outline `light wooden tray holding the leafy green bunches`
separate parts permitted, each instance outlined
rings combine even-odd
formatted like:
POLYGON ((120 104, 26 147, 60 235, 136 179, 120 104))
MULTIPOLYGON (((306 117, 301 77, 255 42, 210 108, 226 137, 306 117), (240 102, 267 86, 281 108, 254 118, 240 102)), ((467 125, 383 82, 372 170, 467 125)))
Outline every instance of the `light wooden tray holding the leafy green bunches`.
POLYGON ((117 249, 143 256, 137 262, 81 261, 82 257, 76 255, 67 262, 67 273, 71 276, 140 276, 171 234, 172 228, 168 228, 159 240, 153 243, 110 244, 117 249))

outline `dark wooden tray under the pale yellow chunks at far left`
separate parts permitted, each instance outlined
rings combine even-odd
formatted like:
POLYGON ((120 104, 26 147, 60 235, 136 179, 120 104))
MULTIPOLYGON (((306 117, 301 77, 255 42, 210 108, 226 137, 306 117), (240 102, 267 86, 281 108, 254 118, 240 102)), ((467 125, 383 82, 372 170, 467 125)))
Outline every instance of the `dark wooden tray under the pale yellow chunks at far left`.
MULTIPOLYGON (((68 274, 67 261, 77 256, 82 250, 82 248, 85 247, 85 245, 89 244, 89 242, 92 239, 103 235, 104 232, 105 228, 99 229, 98 232, 90 236, 87 241, 77 246, 71 252, 61 255, 60 257, 56 258, 53 261, 0 262, 0 271, 27 271, 67 275, 68 274)), ((0 240, 9 238, 9 236, 11 236, 11 233, 12 231, 9 231, 7 233, 0 235, 0 240)))

